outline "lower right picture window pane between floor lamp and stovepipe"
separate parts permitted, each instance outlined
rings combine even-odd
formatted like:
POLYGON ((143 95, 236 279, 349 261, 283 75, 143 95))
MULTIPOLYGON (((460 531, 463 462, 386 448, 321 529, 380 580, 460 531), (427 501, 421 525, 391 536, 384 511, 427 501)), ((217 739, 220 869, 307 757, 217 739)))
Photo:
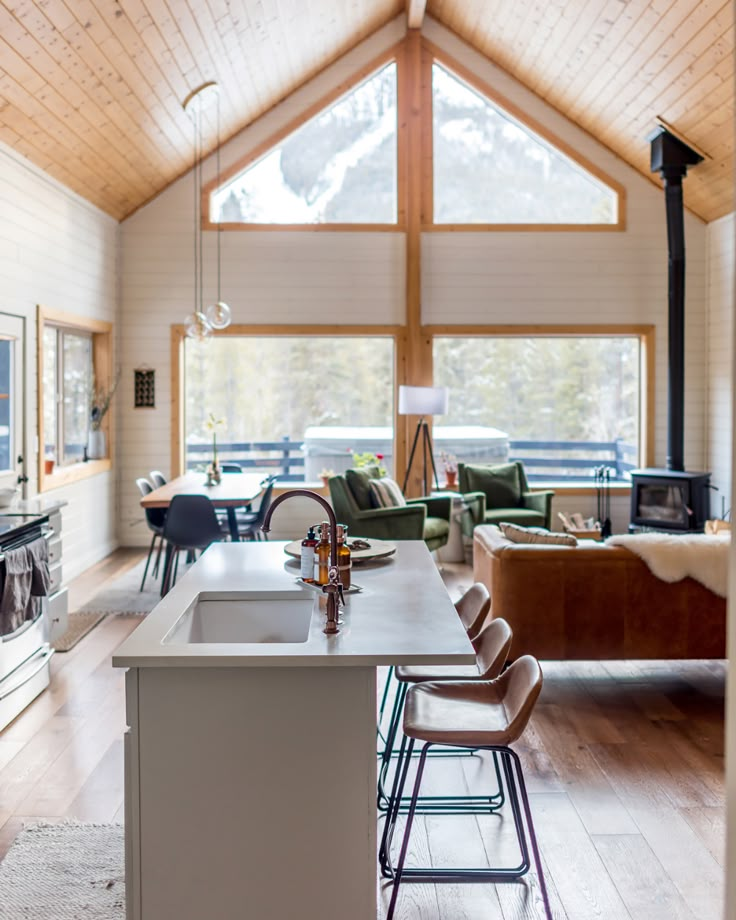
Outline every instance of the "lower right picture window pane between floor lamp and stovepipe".
POLYGON ((587 484, 607 466, 626 481, 643 460, 643 352, 637 334, 435 337, 442 424, 475 432, 458 459, 521 459, 531 480, 587 484))

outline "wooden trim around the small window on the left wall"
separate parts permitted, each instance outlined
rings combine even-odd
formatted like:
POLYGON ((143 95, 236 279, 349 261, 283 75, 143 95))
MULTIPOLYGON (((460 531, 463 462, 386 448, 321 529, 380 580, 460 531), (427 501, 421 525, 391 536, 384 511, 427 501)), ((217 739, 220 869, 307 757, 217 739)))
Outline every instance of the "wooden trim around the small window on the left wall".
MULTIPOLYGON (((104 320, 89 319, 85 316, 68 313, 64 310, 55 310, 41 304, 37 306, 36 329, 36 398, 38 419, 38 491, 48 492, 60 486, 96 476, 107 472, 113 467, 114 456, 114 404, 102 421, 101 428, 107 436, 108 456, 101 460, 87 460, 80 463, 70 463, 61 467, 54 467, 53 473, 45 471, 44 445, 44 417, 43 417, 43 357, 44 357, 44 332, 46 327, 67 329, 70 332, 85 333, 92 336, 92 366, 95 379, 99 384, 110 386, 113 377, 113 350, 112 333, 113 324, 104 320)), ((56 389, 56 384, 55 384, 56 389)))

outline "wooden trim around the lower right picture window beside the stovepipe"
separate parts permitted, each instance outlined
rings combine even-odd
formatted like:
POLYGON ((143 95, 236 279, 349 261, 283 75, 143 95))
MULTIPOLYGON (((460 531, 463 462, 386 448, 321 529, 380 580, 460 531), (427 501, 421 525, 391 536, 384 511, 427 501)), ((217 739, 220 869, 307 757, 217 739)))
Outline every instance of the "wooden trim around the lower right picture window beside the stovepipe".
MULTIPOLYGON (((430 342, 435 338, 501 338, 517 336, 520 338, 610 338, 611 336, 636 336, 641 346, 640 401, 639 401, 639 444, 642 467, 654 462, 654 422, 655 422, 655 329, 653 324, 577 324, 577 325, 492 325, 492 326, 424 326, 430 342)), ((430 361, 432 356, 430 353, 430 361)), ((565 495, 592 495, 592 486, 574 483, 566 485, 550 479, 549 482, 535 482, 533 488, 552 486, 555 491, 565 495)), ((611 487, 613 489, 613 483, 611 487)), ((616 484, 618 494, 628 493, 630 487, 616 484)))

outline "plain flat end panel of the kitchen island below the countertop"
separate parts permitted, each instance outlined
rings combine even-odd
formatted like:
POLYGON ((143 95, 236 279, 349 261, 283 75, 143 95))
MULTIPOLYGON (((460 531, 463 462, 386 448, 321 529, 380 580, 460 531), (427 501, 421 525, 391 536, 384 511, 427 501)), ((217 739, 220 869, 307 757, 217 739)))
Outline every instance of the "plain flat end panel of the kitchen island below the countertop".
POLYGON ((375 669, 138 673, 140 920, 375 920, 375 669))

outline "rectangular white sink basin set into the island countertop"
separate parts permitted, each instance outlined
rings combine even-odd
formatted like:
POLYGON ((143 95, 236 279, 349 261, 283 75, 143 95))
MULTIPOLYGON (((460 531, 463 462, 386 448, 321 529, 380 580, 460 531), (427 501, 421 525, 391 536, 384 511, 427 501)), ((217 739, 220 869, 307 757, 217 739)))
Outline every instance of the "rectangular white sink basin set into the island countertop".
POLYGON ((306 642, 314 597, 304 591, 203 592, 164 645, 306 642))

